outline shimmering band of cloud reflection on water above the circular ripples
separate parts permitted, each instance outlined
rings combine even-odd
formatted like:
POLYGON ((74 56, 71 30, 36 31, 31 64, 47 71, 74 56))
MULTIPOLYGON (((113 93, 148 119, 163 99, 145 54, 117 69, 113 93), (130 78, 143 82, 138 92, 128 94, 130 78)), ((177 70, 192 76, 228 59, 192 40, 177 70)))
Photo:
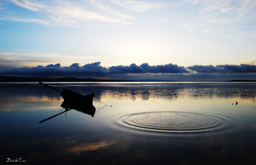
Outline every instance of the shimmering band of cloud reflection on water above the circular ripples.
POLYGON ((136 99, 163 99, 176 101, 177 99, 212 99, 212 98, 240 98, 247 101, 256 101, 256 89, 244 90, 244 88, 182 88, 182 89, 112 89, 103 90, 100 97, 109 100, 136 99))

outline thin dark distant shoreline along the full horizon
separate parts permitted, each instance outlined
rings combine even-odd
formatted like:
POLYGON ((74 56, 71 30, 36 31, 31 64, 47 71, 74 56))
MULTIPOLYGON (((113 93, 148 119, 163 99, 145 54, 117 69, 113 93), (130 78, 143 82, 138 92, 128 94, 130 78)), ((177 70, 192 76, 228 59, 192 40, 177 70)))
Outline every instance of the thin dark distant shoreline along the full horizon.
MULTIPOLYGON (((38 78, 38 77, 15 77, 15 76, 0 76, 0 82, 147 82, 147 81, 124 81, 124 80, 102 80, 94 78, 38 78)), ((152 80, 156 81, 157 80, 152 80)), ((166 81, 174 82, 174 81, 166 81)), ((177 81, 178 82, 178 81, 177 81)), ((195 82, 195 81, 193 81, 195 82)), ((198 81, 204 82, 204 81, 198 81)), ((205 81, 210 82, 210 81, 205 81)), ((230 81, 212 81, 212 82, 256 82, 256 80, 230 80, 230 81)))

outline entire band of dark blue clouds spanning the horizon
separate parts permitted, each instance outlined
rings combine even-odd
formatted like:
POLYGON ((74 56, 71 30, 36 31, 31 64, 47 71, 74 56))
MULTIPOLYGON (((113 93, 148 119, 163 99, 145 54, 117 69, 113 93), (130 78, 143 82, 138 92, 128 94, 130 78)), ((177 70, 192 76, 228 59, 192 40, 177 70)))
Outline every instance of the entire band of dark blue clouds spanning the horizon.
POLYGON ((38 67, 20 67, 0 70, 1 76, 22 76, 42 78, 110 78, 115 80, 163 80, 163 81, 226 81, 233 79, 256 80, 256 65, 194 65, 180 67, 176 64, 154 65, 148 63, 130 66, 100 66, 101 62, 79 66, 74 63, 69 67, 61 64, 49 64, 38 67))

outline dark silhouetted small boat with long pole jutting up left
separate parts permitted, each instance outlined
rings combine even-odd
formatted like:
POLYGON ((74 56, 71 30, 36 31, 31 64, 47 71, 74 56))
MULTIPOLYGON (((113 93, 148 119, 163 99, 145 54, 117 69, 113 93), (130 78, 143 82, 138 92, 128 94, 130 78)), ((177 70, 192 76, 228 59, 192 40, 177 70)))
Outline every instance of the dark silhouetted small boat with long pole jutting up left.
POLYGON ((58 92, 61 92, 61 97, 66 100, 66 101, 72 101, 72 102, 79 102, 79 103, 85 103, 85 104, 93 104, 93 100, 95 98, 95 92, 93 91, 90 95, 81 95, 77 92, 74 92, 72 90, 69 89, 63 89, 62 91, 59 91, 58 89, 55 89, 53 87, 50 87, 47 84, 41 83, 40 84, 49 87, 51 89, 54 89, 58 92))

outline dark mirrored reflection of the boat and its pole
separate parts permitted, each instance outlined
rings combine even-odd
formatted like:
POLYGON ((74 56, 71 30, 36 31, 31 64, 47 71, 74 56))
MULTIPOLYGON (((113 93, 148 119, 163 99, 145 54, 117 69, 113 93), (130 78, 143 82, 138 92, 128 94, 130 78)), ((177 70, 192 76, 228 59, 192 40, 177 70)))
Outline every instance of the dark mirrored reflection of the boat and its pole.
POLYGON ((47 120, 50 120, 58 115, 61 115, 63 113, 66 112, 66 115, 67 115, 67 111, 70 111, 71 109, 75 109, 79 112, 82 112, 84 114, 87 114, 87 115, 91 115, 92 117, 94 116, 95 114, 95 111, 96 111, 96 108, 93 106, 93 104, 90 104, 90 103, 84 103, 82 101, 67 101, 67 100, 64 100, 61 104, 61 107, 62 108, 65 108, 65 111, 61 112, 61 113, 58 113, 56 115, 53 115, 51 117, 48 117, 47 119, 44 119, 42 121, 40 121, 39 123, 43 123, 47 120))

